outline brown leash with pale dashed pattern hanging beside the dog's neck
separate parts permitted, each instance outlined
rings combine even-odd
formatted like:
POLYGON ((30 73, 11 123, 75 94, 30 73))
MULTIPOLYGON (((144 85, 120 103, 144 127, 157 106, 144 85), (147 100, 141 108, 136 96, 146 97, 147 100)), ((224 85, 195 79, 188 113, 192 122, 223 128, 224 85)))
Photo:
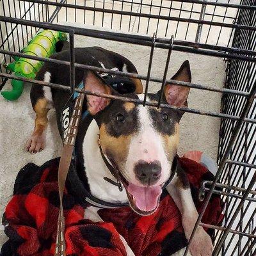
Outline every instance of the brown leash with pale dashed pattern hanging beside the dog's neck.
POLYGON ((84 101, 84 93, 79 93, 76 98, 76 103, 70 118, 70 123, 68 125, 67 136, 64 140, 63 151, 60 158, 60 164, 58 168, 58 184, 59 184, 59 194, 60 194, 60 211, 58 217, 58 228, 56 236, 56 248, 55 256, 65 256, 66 255, 66 243, 65 243, 65 218, 63 214, 63 192, 65 189, 65 182, 67 179, 67 173, 72 161, 72 153, 74 150, 74 145, 77 136, 77 127, 79 125, 79 120, 81 118, 82 108, 84 101))

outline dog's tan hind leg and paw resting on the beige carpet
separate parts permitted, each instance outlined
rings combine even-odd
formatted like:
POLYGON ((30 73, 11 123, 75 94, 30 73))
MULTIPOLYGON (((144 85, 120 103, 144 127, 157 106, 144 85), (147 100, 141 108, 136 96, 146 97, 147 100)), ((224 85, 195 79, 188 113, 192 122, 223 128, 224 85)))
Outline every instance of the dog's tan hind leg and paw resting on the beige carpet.
POLYGON ((45 148, 45 130, 48 124, 47 113, 50 110, 48 100, 44 97, 36 100, 33 109, 36 113, 35 129, 26 143, 26 150, 31 154, 40 152, 45 148))

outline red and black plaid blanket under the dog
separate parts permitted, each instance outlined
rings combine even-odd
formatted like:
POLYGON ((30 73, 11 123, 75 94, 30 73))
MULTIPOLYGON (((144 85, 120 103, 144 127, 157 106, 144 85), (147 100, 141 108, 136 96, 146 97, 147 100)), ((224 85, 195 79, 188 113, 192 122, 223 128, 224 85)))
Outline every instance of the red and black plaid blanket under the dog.
MULTIPOLYGON (((38 167, 29 163, 22 168, 15 181, 12 200, 6 206, 3 225, 8 241, 1 256, 54 255, 59 208, 58 159, 38 167)), ((202 180, 212 175, 195 161, 180 158, 186 171, 196 208, 200 211, 198 188, 202 180)), ((124 237, 136 256, 170 256, 186 246, 180 212, 172 198, 163 192, 159 209, 150 216, 140 216, 130 207, 100 209, 104 222, 84 219, 86 207, 79 203, 67 182, 63 197, 67 255, 125 256, 124 237)), ((217 225, 222 219, 222 203, 212 196, 203 222, 217 225)), ((207 230, 212 235, 213 230, 207 230)))

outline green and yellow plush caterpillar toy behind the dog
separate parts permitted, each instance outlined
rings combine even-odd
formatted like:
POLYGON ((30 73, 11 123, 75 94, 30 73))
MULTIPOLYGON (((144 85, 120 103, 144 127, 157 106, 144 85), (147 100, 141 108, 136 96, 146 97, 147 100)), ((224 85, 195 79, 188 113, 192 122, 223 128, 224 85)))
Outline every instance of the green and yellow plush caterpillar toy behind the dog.
MULTIPOLYGON (((56 52, 55 45, 60 40, 67 40, 67 35, 63 32, 53 30, 39 31, 21 52, 31 56, 49 58, 49 56, 56 52)), ((23 57, 15 57, 14 59, 15 61, 13 63, 4 63, 4 67, 19 77, 34 79, 42 65, 44 65, 44 61, 31 60, 23 57)), ((1 92, 1 94, 7 100, 17 100, 23 91, 23 87, 23 81, 12 79, 12 91, 1 92)))

